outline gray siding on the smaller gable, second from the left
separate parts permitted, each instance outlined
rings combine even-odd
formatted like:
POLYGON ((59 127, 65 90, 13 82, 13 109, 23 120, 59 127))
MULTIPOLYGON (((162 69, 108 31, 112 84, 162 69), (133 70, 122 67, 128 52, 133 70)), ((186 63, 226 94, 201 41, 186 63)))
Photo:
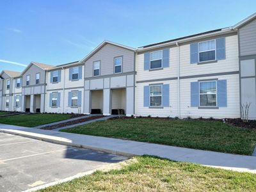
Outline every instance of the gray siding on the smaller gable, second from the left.
POLYGON ((40 83, 45 83, 45 71, 42 68, 37 67, 36 65, 31 65, 31 67, 24 73, 22 76, 22 86, 26 86, 26 77, 30 75, 30 84, 35 85, 36 84, 36 74, 40 73, 40 83))

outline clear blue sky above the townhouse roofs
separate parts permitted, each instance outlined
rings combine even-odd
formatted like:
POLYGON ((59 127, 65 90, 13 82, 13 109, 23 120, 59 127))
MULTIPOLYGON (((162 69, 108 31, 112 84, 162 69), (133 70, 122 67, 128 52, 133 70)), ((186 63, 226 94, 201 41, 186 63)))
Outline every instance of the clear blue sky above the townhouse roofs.
POLYGON ((255 0, 1 0, 0 71, 77 61, 103 40, 140 47, 225 28, 255 7, 255 0))

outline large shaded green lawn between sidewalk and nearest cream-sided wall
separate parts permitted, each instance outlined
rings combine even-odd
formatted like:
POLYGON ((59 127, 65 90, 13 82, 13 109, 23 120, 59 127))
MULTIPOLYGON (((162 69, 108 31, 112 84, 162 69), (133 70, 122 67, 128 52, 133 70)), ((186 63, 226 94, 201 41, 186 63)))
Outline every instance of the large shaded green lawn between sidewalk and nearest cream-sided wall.
POLYGON ((61 130, 78 134, 251 155, 256 131, 217 121, 116 119, 61 130))

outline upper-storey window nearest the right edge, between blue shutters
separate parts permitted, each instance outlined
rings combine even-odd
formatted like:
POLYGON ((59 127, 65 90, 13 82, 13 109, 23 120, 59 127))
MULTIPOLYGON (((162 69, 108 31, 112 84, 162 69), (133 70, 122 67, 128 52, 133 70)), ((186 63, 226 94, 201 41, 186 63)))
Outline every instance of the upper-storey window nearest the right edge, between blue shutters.
POLYGON ((216 60, 215 40, 199 42, 199 62, 216 60))

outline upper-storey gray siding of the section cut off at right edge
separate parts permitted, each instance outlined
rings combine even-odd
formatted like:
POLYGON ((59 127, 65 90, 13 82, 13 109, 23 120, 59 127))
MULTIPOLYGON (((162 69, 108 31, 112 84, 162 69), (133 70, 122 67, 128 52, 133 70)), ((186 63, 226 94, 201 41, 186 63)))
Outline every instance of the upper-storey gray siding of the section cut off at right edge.
POLYGON ((240 56, 256 54, 256 19, 239 29, 240 56))

